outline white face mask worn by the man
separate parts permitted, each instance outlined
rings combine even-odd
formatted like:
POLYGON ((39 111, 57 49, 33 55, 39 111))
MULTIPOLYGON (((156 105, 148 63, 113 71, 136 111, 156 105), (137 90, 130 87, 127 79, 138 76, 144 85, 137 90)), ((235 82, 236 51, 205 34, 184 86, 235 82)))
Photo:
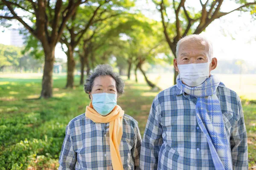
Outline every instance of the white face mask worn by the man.
POLYGON ((209 78, 210 62, 198 64, 178 64, 180 80, 190 87, 201 85, 209 78))

